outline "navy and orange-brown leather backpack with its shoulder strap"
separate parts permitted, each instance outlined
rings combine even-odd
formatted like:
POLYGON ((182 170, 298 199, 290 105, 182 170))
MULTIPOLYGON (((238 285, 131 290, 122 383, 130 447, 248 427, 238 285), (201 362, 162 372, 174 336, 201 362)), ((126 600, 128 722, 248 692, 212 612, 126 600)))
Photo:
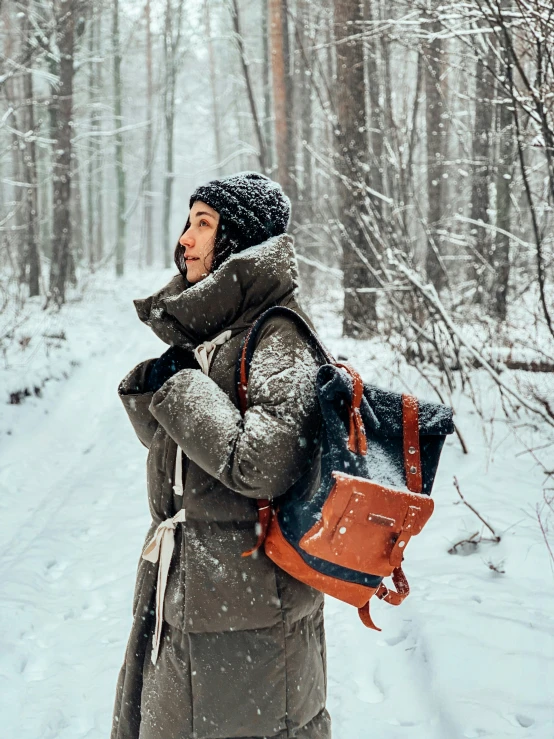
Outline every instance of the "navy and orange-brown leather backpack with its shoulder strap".
POLYGON ((373 629, 369 601, 399 605, 409 594, 402 571, 406 545, 433 512, 429 497, 452 409, 418 402, 412 395, 362 382, 351 366, 336 362, 304 319, 284 306, 266 310, 247 333, 237 362, 241 413, 256 337, 272 316, 291 318, 326 364, 316 393, 322 415, 320 485, 310 497, 313 469, 273 506, 258 500, 258 540, 267 556, 296 579, 358 608, 373 629), (383 579, 392 576, 396 589, 383 579))

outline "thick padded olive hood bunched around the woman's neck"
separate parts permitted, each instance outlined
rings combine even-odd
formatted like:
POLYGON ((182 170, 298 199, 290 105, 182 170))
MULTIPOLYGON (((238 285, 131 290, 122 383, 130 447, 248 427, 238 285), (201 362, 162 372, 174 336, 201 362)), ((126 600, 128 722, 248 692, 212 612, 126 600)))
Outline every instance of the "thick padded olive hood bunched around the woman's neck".
POLYGON ((271 305, 293 301, 297 290, 294 239, 285 233, 231 255, 190 287, 179 274, 133 302, 140 320, 166 344, 195 346, 224 329, 244 330, 271 305))

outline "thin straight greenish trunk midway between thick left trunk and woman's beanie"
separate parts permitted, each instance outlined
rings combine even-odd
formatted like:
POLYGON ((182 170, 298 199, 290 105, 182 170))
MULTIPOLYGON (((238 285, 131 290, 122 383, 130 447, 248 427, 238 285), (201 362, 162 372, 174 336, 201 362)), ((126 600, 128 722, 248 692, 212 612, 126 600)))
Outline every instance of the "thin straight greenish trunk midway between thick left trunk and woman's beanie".
POLYGON ((119 40, 119 0, 113 0, 112 16, 114 125, 117 133, 115 142, 115 172, 117 182, 115 273, 123 275, 125 269, 125 169, 123 162, 121 44, 119 40))

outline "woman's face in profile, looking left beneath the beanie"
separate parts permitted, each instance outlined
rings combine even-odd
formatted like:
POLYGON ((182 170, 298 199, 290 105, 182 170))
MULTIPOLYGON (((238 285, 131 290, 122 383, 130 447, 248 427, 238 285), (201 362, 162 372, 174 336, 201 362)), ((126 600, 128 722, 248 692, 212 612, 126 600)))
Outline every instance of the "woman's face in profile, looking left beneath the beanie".
POLYGON ((197 200, 189 213, 190 227, 179 239, 185 252, 187 280, 199 282, 206 277, 214 259, 214 240, 219 213, 197 200))

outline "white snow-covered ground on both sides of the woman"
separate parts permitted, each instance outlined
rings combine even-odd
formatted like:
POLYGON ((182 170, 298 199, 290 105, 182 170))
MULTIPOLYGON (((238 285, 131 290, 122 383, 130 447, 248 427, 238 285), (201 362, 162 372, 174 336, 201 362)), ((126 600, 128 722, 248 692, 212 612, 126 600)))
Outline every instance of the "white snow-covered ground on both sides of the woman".
MULTIPOLYGON (((44 347, 35 347, 34 361, 22 349, 0 369, 1 739, 109 735, 149 523, 146 450, 116 387, 134 364, 163 351, 131 298, 169 275, 137 273, 118 284, 96 275, 83 301, 40 314, 41 335, 66 335, 48 357, 44 347), (41 397, 7 404, 18 382, 32 386, 39 376, 59 379, 41 397)), ((386 350, 338 339, 327 311, 319 325, 366 380, 391 384, 386 350)), ((403 389, 397 379, 392 385, 403 389)), ((411 597, 397 609, 373 606, 381 633, 366 630, 354 609, 327 602, 334 739, 554 737, 554 575, 535 512, 544 477, 521 453, 524 442, 485 379, 482 395, 494 433, 460 401, 470 454, 447 441, 435 514, 407 553, 411 597), (500 544, 448 554, 482 531, 459 502, 454 475, 500 544)))

